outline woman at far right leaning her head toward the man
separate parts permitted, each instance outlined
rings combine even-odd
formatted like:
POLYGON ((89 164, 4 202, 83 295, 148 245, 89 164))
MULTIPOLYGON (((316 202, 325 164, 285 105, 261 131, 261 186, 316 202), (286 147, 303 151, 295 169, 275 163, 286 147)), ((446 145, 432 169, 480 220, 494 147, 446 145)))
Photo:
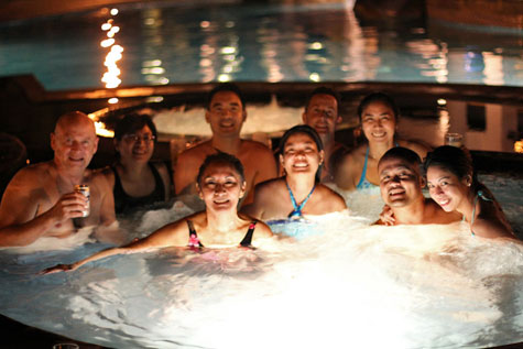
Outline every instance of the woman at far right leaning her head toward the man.
POLYGON ((458 211, 472 236, 515 238, 501 206, 478 181, 470 154, 444 145, 428 153, 424 168, 431 197, 447 212, 458 211))

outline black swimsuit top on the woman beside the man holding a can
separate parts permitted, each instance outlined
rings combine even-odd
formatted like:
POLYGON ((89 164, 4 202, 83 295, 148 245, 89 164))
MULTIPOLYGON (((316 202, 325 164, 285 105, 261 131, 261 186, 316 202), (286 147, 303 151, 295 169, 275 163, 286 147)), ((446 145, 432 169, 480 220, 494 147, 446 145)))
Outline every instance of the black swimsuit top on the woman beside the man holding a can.
POLYGON ((154 176, 154 190, 149 195, 134 197, 126 193, 117 168, 111 166, 111 170, 115 173, 115 187, 112 194, 115 195, 115 211, 117 214, 132 212, 139 208, 152 206, 153 204, 165 200, 165 187, 160 173, 151 163, 149 163, 149 168, 151 168, 154 176))

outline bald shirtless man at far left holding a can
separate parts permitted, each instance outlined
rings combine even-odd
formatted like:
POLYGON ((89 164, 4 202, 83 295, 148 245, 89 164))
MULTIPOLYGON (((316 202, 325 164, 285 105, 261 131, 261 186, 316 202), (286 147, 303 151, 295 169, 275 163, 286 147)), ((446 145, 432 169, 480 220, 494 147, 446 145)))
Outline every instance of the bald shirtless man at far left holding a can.
MULTIPOLYGON (((98 146, 92 120, 74 111, 59 117, 51 148, 54 159, 19 171, 0 203, 0 247, 28 246, 41 237, 65 238, 76 228, 100 226, 98 238, 115 222, 112 188, 87 170, 98 146), (90 199, 74 190, 87 184, 90 199), (83 218, 89 205, 89 215, 83 218)), ((110 240, 110 239, 101 239, 110 240)))

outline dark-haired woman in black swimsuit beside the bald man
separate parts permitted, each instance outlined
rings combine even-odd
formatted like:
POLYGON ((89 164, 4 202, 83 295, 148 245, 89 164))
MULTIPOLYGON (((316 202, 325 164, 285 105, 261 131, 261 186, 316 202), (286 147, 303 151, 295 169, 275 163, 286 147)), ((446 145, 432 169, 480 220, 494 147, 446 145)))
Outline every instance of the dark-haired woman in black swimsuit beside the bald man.
POLYGON ((111 184, 117 215, 157 208, 171 197, 164 163, 152 163, 156 127, 149 116, 130 113, 115 128, 116 164, 103 171, 111 184))

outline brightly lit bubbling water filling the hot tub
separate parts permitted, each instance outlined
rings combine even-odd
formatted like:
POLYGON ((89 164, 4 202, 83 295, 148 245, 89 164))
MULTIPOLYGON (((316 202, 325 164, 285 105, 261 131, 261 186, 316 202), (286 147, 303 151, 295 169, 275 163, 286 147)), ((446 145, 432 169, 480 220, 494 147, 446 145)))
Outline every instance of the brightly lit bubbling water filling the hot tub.
MULTIPOLYGON (((132 233, 148 235, 190 211, 181 203, 149 211, 132 233)), ((522 244, 472 238, 461 222, 369 226, 374 215, 310 217, 322 233, 276 236, 257 250, 170 248, 43 276, 35 274, 107 246, 3 251, 0 308, 28 325, 117 348, 521 341, 522 244)))

